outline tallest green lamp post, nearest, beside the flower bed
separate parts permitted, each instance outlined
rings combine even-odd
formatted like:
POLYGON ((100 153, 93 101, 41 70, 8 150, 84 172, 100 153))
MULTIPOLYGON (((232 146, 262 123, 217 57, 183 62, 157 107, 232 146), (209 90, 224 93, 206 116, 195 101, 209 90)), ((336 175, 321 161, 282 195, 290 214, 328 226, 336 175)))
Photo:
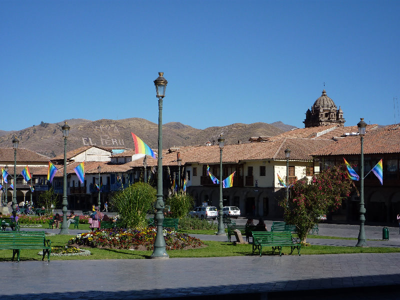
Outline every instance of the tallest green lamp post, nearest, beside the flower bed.
POLYGON ((154 239, 154 250, 150 258, 169 258, 165 250, 165 239, 162 234, 162 223, 164 221, 164 201, 162 199, 162 98, 165 96, 165 88, 168 81, 158 72, 154 80, 156 97, 158 98, 158 160, 157 160, 157 200, 155 201, 154 221, 157 231, 154 239))

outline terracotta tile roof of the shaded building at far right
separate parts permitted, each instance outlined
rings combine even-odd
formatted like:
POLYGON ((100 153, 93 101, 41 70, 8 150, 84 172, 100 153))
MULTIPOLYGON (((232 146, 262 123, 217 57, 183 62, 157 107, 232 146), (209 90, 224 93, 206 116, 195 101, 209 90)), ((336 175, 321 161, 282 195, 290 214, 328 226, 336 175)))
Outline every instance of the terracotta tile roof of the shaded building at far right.
MULTIPOLYGON (((358 135, 346 136, 332 143, 328 148, 320 148, 312 155, 359 154, 361 151, 358 135)), ((392 125, 366 131, 364 136, 364 154, 400 153, 400 126, 392 125)))

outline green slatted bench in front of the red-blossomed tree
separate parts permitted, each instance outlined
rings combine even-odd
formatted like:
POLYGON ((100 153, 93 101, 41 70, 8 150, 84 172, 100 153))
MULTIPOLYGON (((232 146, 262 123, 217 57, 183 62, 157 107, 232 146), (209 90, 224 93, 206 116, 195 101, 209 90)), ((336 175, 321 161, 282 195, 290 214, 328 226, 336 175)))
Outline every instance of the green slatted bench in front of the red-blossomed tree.
POLYGON ((258 250, 259 256, 261 256, 262 247, 272 247, 272 254, 275 250, 279 251, 279 255, 282 256, 282 247, 290 247, 290 254, 294 249, 297 249, 298 256, 300 256, 301 244, 294 242, 290 231, 252 231, 253 233, 253 244, 252 254, 255 250, 258 250))

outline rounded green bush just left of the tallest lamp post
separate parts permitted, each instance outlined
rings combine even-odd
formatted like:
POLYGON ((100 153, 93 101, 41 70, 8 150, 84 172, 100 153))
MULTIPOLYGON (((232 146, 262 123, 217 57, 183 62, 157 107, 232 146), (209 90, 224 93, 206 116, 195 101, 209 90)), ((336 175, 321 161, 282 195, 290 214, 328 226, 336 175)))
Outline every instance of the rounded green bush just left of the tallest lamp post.
POLYGON ((146 213, 154 204, 156 189, 148 183, 136 182, 114 194, 110 205, 118 211, 126 228, 145 227, 146 213))

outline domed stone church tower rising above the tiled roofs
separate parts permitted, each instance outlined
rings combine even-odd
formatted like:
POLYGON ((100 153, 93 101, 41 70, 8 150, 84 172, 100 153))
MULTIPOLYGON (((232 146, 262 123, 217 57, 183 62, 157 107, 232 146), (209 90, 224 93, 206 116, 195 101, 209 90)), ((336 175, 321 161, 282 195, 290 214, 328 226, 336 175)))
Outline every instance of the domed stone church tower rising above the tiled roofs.
POLYGON ((325 125, 344 126, 343 110, 340 106, 337 109, 336 104, 326 95, 326 90, 322 90, 322 95, 315 100, 311 110, 305 112, 303 121, 304 127, 316 127, 325 125))

